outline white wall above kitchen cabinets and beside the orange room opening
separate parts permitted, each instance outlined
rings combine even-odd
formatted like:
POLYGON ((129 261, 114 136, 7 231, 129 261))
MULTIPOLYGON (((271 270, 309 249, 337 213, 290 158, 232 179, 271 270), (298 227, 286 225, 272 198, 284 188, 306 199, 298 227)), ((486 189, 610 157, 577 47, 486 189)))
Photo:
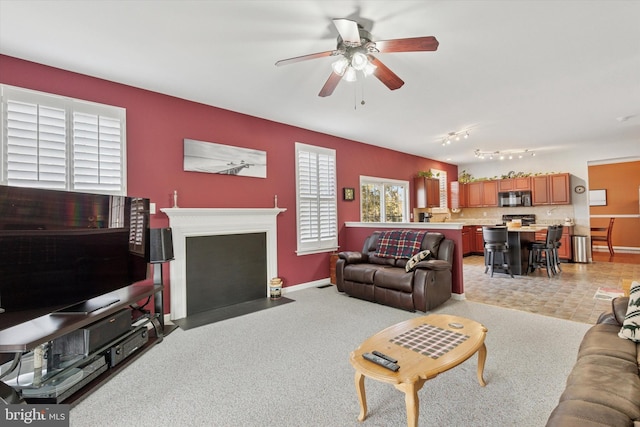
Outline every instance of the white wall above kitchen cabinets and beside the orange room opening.
MULTIPOLYGON (((551 150, 550 150, 551 151, 551 150)), ((458 173, 466 170, 474 178, 500 177, 510 171, 525 173, 568 172, 571 174, 571 202, 575 215, 575 233, 589 234, 588 176, 589 164, 615 163, 640 160, 640 140, 620 143, 597 143, 574 146, 568 150, 545 153, 537 151, 535 157, 513 160, 481 160, 458 165, 458 173), (587 191, 577 194, 576 185, 587 191)))

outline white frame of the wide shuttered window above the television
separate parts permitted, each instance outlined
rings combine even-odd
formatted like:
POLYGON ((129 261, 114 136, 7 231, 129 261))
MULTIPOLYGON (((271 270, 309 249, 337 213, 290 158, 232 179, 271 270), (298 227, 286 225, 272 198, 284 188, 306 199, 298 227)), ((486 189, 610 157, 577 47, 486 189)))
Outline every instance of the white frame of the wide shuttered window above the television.
MULTIPOLYGON (((65 166, 64 166, 64 188, 56 187, 52 185, 46 185, 40 180, 25 180, 24 185, 28 187, 36 188, 48 188, 64 191, 74 192, 90 192, 96 194, 118 195, 123 196, 127 194, 127 128, 126 128, 126 109, 122 107, 95 103, 91 101, 85 101, 81 99, 71 98, 68 96, 55 95, 51 93, 36 91, 32 89, 25 89, 17 86, 11 86, 6 84, 0 84, 0 184, 2 185, 17 185, 15 183, 9 184, 8 172, 8 103, 23 103, 37 105, 38 107, 48 107, 64 110, 64 140, 65 140, 65 166), (74 116, 76 114, 84 114, 89 116, 95 116, 98 120, 106 118, 114 120, 119 123, 119 153, 117 153, 118 162, 111 162, 111 164, 119 165, 119 185, 114 184, 115 188, 100 188, 100 183, 92 185, 90 183, 74 182, 74 168, 79 168, 81 163, 80 155, 76 156, 74 152, 74 145, 78 145, 78 139, 80 138, 77 133, 79 128, 74 128, 74 116), (76 133, 74 134, 74 130, 76 133)), ((100 122, 98 122, 100 123, 100 122)), ((98 124, 98 135, 101 135, 102 126, 98 124)), ((40 139, 38 138, 38 141, 40 139)), ((97 150, 96 158, 97 164, 102 165, 103 159, 103 147, 102 137, 99 137, 98 145, 95 147, 97 150)), ((113 150, 112 150, 113 152, 113 150)), ((112 156, 113 157, 113 156, 112 156)), ((38 168, 41 164, 38 164, 38 168)), ((99 172, 100 166, 95 168, 96 174, 103 178, 103 175, 99 172)), ((61 181, 60 181, 61 182, 61 181)), ((106 187, 107 184, 103 184, 102 187, 106 187)))

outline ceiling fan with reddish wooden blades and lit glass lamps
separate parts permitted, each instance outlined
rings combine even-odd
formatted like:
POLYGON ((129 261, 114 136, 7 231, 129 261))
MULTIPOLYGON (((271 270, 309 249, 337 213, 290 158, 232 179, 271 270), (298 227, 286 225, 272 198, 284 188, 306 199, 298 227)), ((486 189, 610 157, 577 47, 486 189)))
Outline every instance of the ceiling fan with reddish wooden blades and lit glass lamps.
POLYGON ((331 95, 341 79, 355 81, 358 71, 361 71, 364 75, 373 74, 391 90, 399 89, 404 84, 404 81, 379 59, 373 56, 373 54, 423 52, 438 49, 438 40, 433 36, 374 42, 371 40, 371 34, 355 21, 350 19, 333 19, 333 24, 339 34, 338 45, 335 50, 297 56, 276 62, 276 65, 280 66, 309 59, 339 56, 340 58, 332 64, 333 72, 320 90, 318 96, 324 97, 331 95))

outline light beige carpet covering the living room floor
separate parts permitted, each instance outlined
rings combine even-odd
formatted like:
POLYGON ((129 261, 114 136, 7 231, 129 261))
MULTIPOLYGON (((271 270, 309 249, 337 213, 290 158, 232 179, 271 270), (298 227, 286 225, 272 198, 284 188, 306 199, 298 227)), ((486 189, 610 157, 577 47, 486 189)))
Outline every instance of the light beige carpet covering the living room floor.
MULTIPOLYGON (((365 381, 369 416, 357 421, 349 353, 381 329, 424 314, 335 287, 287 297, 296 302, 177 329, 73 408, 71 427, 406 425, 402 393, 372 380, 365 381)), ((419 425, 544 425, 589 325, 470 301, 449 300, 435 311, 488 328, 487 385, 478 384, 477 356, 427 381, 419 425)))

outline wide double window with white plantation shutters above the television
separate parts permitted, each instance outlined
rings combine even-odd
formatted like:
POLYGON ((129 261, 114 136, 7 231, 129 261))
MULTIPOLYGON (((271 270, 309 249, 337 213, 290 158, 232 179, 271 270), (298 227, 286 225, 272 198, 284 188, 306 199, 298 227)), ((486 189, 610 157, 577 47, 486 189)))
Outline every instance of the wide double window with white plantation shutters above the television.
POLYGON ((0 183, 126 194, 123 108, 7 85, 0 183))

